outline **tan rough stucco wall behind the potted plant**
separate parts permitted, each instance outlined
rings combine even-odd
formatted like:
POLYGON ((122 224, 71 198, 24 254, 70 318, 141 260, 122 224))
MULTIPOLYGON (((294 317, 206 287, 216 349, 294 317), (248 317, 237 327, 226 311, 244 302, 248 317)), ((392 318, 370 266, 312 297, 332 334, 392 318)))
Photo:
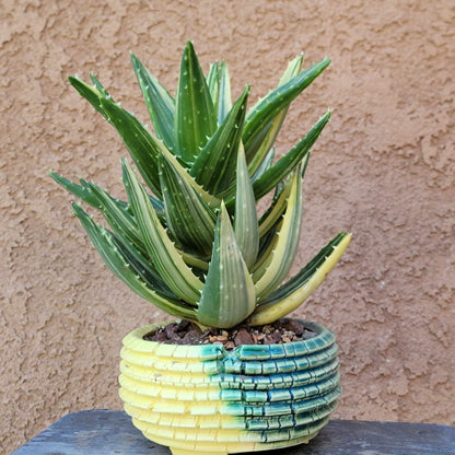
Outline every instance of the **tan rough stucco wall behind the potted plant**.
POLYGON ((455 424, 454 2, 98 3, 0 1, 0 452, 68 412, 120 408, 120 340, 162 317, 109 275, 46 175, 122 195, 121 141, 66 77, 95 72, 145 119, 129 50, 173 88, 188 38, 253 98, 302 50, 307 65, 332 58, 280 150, 334 109, 305 182, 299 262, 337 230, 354 236, 299 314, 338 334, 338 417, 455 424))

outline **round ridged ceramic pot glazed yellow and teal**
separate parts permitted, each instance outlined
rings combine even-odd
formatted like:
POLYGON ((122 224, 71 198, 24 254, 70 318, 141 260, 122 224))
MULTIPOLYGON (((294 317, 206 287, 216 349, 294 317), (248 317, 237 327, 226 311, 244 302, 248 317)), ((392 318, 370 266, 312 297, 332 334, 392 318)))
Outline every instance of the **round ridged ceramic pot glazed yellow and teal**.
MULTIPOLYGON (((335 336, 284 345, 176 346, 148 341, 159 325, 124 339, 120 397, 132 423, 173 455, 256 452, 306 443, 340 395, 335 336)), ((167 323, 168 324, 168 323, 167 323)), ((164 324, 165 325, 165 324, 164 324)))

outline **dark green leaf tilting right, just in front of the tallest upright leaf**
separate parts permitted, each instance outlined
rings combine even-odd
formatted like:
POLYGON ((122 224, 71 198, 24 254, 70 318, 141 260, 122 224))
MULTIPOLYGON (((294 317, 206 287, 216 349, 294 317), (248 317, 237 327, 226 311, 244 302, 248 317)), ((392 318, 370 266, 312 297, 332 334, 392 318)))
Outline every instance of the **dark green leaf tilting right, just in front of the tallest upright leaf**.
POLYGON ((196 182, 217 197, 231 185, 235 189, 237 152, 248 92, 247 86, 189 170, 196 182))

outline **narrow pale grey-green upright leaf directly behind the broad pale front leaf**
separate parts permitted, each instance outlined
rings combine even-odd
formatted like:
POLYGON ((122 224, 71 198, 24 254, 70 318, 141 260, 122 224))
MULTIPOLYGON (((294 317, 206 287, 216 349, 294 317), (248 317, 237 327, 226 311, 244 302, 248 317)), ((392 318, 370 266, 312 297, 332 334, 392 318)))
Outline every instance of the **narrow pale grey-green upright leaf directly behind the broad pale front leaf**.
POLYGON ((243 147, 238 149, 237 188, 235 197, 234 232, 248 270, 252 270, 259 250, 259 231, 256 212, 256 199, 246 165, 243 147))

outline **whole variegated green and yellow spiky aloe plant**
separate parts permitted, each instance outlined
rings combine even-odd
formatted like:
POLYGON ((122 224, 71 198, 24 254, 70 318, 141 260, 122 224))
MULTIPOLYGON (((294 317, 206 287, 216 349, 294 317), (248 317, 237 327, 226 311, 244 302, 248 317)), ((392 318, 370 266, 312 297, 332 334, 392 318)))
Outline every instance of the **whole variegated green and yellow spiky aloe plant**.
POLYGON ((127 201, 94 183, 51 173, 104 215, 109 229, 73 205, 106 265, 143 299, 201 326, 268 324, 298 308, 350 240, 339 233, 282 284, 299 245, 310 150, 330 113, 279 160, 273 142, 290 103, 329 60, 302 71, 296 57, 278 88, 249 109, 249 86, 232 103, 226 65, 213 63, 205 77, 191 43, 175 97, 135 56, 132 63, 154 132, 94 75, 93 86, 78 78, 70 82, 117 129, 148 189, 126 159, 127 201), (259 218, 257 201, 270 191, 270 207, 259 218))

